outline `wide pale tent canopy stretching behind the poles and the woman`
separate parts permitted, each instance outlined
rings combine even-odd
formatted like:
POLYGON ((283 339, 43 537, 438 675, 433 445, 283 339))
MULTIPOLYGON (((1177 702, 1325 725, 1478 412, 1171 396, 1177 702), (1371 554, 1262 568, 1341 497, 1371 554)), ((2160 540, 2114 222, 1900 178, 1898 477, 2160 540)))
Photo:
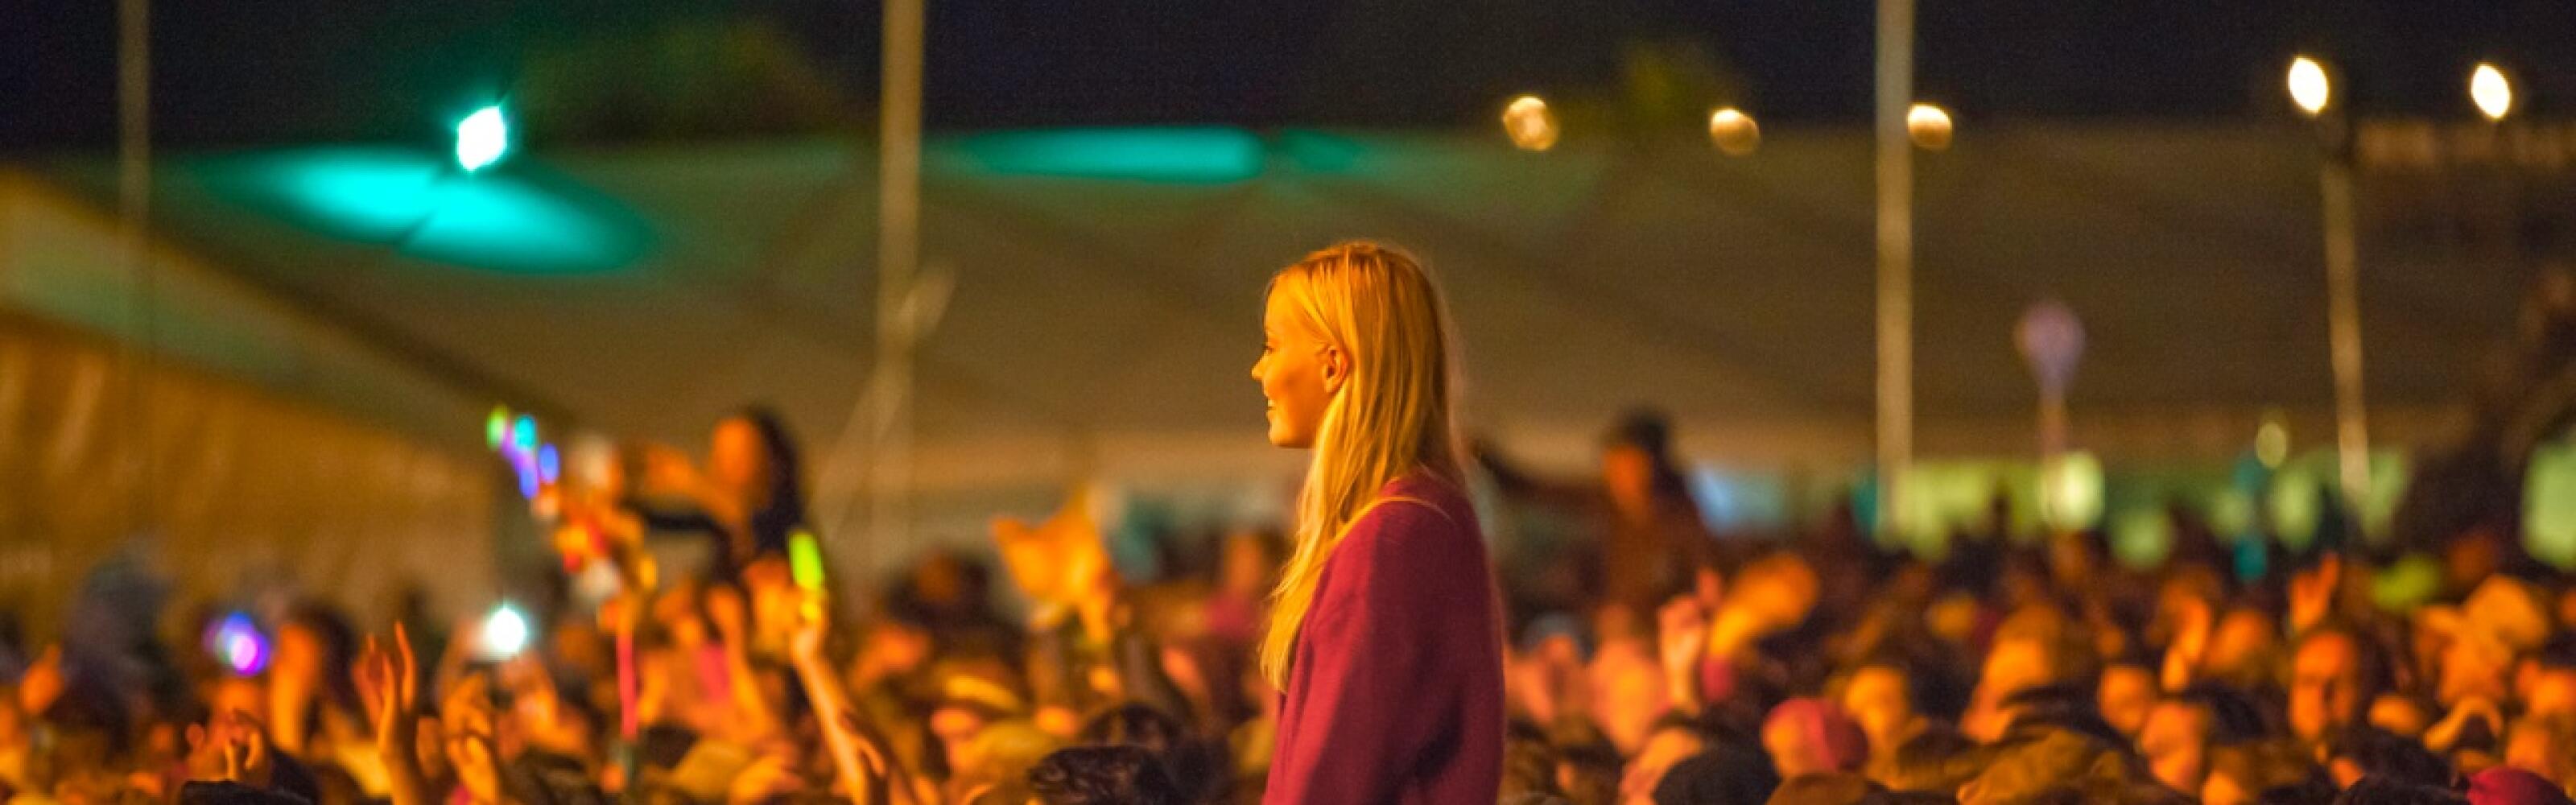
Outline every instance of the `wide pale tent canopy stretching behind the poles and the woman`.
MULTIPOLYGON (((538 144, 477 175, 317 191, 330 168, 314 165, 350 155, 440 160, 173 157, 157 227, 466 395, 605 433, 698 444, 714 418, 765 400, 822 452, 863 390, 876 292, 863 142, 538 144), (425 201, 384 201, 399 194, 425 201), (464 209, 484 196, 551 206, 464 209), (350 224, 327 209, 363 199, 420 219, 358 209, 350 224), (562 261, 513 255, 507 237, 562 261)), ((953 271, 956 297, 922 346, 917 480, 963 495, 1074 475, 1293 472, 1260 444, 1244 372, 1267 273, 1337 237, 1401 243, 1443 273, 1468 423, 1517 449, 1574 462, 1613 413, 1651 402, 1698 459, 1850 467, 1870 439, 1868 170, 1865 132, 1850 129, 1770 132, 1752 157, 1404 132, 933 137, 922 255, 953 271)), ((2329 433, 2316 152, 2298 132, 1968 126, 1919 170, 1922 454, 2032 444, 2009 333, 2045 297, 2092 335, 2074 439, 2107 462, 2231 457, 2264 410, 2285 410, 2306 444, 2329 433)), ((100 163, 44 175, 108 199, 100 163)), ((2409 214, 2370 191, 2372 222, 2409 214)), ((2375 235, 2362 253, 2385 441, 2439 423, 2530 279, 2421 240, 2375 235)), ((392 415, 471 439, 474 410, 392 415)))

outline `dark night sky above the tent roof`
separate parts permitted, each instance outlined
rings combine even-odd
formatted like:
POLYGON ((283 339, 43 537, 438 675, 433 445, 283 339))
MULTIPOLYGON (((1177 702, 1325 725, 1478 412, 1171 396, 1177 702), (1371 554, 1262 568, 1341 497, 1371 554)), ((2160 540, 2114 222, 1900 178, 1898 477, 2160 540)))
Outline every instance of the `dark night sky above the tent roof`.
MULTIPOLYGON (((0 147, 113 142, 113 8, 13 5, 0 147)), ((876 95, 876 3, 265 0, 157 3, 155 15, 155 124, 173 147, 438 137, 459 108, 520 90, 541 54, 649 39, 672 21, 778 31, 850 119, 868 119, 876 95)), ((1868 0, 935 0, 927 116, 935 129, 1481 126, 1520 90, 1613 85, 1625 44, 1685 41, 1731 70, 1767 121, 1857 121, 1870 15, 1868 0)), ((2514 70, 2524 108, 2576 111, 2566 0, 1922 0, 1919 15, 1919 90, 1968 116, 2277 114, 2280 67, 2300 49, 2344 70, 2362 111, 2468 116, 2481 57, 2514 70)), ((590 85, 667 90, 649 70, 590 85)), ((755 119, 752 132, 680 129, 811 126, 742 114, 773 101, 734 95, 752 98, 714 119, 755 119)), ((670 129, 611 121, 580 137, 670 129)))

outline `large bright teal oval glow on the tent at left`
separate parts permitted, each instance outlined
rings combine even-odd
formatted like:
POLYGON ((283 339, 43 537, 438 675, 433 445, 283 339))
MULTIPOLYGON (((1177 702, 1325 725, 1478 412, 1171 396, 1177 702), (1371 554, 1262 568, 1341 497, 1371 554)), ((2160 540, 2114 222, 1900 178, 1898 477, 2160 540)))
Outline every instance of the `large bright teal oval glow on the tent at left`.
POLYGON ((587 273, 641 258, 652 227, 626 206, 536 170, 461 173, 404 147, 314 147, 222 157, 206 183, 252 212, 412 258, 587 273))

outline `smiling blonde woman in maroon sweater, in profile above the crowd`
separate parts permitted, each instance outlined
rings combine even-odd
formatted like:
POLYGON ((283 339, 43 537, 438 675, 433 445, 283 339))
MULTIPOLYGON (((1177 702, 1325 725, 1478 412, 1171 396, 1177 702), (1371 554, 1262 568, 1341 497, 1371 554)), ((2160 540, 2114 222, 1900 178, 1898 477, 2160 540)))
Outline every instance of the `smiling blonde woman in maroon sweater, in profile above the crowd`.
POLYGON ((1270 279, 1270 444, 1314 462, 1273 593, 1280 689, 1265 802, 1492 805, 1502 787, 1494 575, 1461 485, 1440 289, 1414 258, 1342 243, 1270 279))

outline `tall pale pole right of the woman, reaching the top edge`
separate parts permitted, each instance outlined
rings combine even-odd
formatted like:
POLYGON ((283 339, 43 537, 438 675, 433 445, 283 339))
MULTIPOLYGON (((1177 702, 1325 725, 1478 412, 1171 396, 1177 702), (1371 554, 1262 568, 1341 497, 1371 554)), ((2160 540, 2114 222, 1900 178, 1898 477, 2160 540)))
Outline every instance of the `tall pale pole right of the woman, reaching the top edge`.
POLYGON ((1878 0, 1878 532, 1914 464, 1914 0, 1878 0))

